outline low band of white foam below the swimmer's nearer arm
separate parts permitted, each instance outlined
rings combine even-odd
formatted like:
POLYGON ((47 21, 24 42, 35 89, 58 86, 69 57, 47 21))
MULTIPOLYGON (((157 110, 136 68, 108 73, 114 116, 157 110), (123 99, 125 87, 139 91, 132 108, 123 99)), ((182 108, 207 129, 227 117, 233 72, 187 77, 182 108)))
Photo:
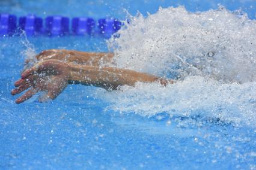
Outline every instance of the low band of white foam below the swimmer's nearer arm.
MULTIPOLYGON (((102 94, 101 94, 102 95, 102 94)), ((255 122, 256 82, 220 83, 199 76, 190 76, 164 87, 158 83, 137 83, 123 86, 118 92, 105 92, 109 109, 141 116, 167 113, 172 116, 198 116, 225 122, 255 122)))

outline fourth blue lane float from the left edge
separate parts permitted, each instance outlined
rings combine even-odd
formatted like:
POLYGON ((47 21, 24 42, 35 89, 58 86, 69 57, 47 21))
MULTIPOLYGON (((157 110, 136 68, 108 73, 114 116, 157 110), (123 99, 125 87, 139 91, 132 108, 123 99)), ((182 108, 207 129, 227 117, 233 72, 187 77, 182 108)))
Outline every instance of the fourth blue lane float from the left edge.
POLYGON ((88 17, 75 17, 72 20, 72 31, 76 35, 92 34, 94 26, 94 19, 88 17))

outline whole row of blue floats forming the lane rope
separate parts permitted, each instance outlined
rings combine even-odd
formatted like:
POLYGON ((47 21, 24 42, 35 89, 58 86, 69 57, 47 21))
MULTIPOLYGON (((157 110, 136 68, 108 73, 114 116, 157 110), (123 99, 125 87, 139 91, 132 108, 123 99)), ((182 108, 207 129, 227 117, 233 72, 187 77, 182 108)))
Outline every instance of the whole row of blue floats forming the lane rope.
POLYGON ((63 16, 48 16, 45 20, 35 15, 17 17, 11 14, 0 14, 0 36, 20 35, 25 32, 28 36, 34 35, 103 35, 110 37, 121 29, 122 23, 117 19, 99 19, 97 22, 90 17, 75 17, 70 19, 63 16), (72 28, 72 32, 70 31, 72 28), (19 29, 17 29, 19 28, 19 29))

